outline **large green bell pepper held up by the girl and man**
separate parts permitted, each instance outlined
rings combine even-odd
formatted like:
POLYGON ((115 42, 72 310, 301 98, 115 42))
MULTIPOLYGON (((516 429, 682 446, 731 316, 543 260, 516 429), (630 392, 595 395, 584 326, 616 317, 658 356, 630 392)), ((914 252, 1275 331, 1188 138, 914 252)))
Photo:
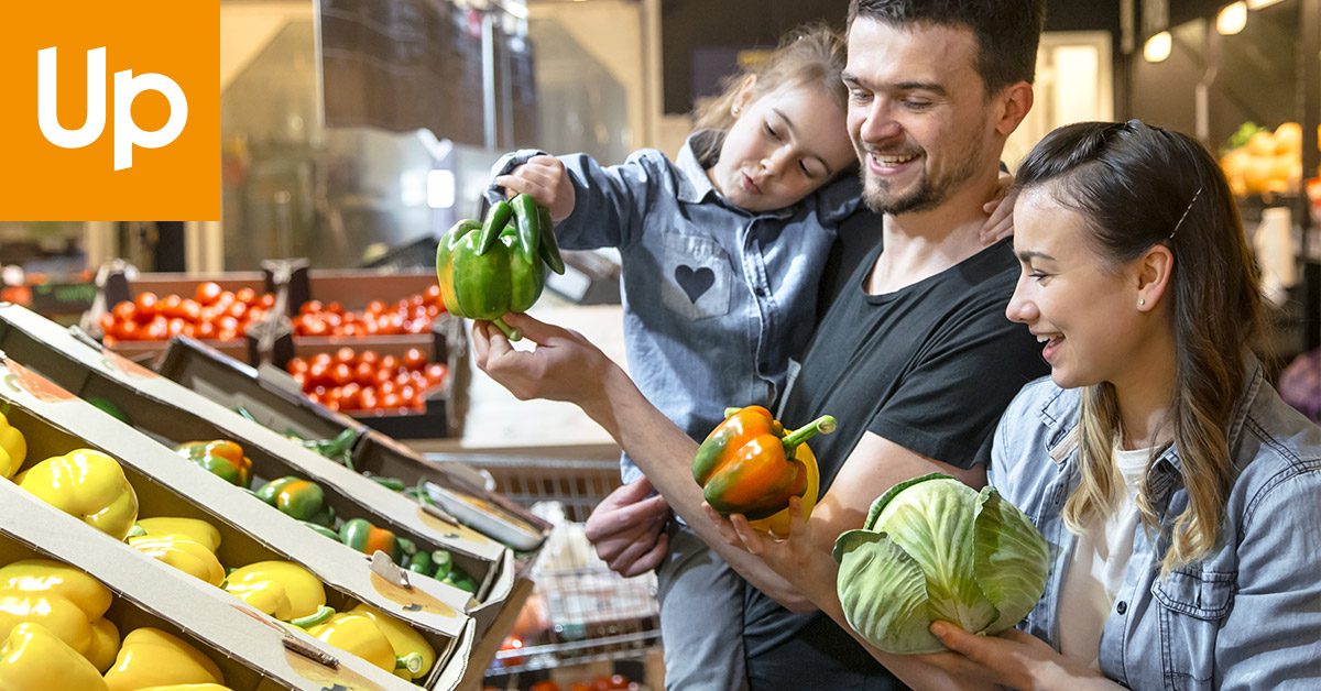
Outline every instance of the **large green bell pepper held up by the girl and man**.
POLYGON ((547 264, 564 272, 561 260, 557 260, 559 250, 553 239, 546 240, 552 231, 543 218, 536 202, 519 194, 513 202, 491 205, 482 225, 464 219, 449 229, 436 248, 436 279, 445 309, 490 321, 511 341, 522 338, 501 317, 536 303, 546 287, 547 264))

